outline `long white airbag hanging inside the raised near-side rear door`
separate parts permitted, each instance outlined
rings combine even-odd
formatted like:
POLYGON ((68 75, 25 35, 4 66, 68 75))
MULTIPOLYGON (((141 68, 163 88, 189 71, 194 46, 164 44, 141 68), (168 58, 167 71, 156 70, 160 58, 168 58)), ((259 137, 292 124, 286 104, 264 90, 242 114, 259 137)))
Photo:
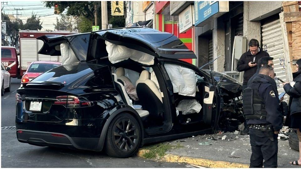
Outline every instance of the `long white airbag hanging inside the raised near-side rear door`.
POLYGON ((150 54, 146 54, 144 52, 129 49, 125 46, 112 44, 108 41, 105 41, 106 49, 108 52, 108 59, 111 63, 118 63, 126 59, 132 59, 141 64, 153 65, 154 64, 154 56, 150 54))

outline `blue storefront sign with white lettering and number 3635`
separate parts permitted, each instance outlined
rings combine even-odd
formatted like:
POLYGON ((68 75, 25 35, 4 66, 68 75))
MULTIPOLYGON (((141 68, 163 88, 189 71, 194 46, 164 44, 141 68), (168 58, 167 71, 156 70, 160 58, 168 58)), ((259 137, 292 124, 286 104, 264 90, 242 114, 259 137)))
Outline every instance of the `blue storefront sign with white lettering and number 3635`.
POLYGON ((200 23, 210 17, 217 18, 225 12, 229 12, 229 1, 195 1, 194 6, 196 26, 200 26, 200 23))

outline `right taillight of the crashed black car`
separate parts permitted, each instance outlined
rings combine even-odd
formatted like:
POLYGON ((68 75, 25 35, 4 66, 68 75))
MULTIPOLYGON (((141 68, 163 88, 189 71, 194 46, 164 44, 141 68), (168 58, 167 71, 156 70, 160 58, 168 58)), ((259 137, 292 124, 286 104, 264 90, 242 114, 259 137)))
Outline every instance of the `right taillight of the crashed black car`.
POLYGON ((53 104, 55 105, 65 105, 66 107, 89 107, 93 103, 87 100, 80 99, 76 96, 57 96, 57 100, 53 104))

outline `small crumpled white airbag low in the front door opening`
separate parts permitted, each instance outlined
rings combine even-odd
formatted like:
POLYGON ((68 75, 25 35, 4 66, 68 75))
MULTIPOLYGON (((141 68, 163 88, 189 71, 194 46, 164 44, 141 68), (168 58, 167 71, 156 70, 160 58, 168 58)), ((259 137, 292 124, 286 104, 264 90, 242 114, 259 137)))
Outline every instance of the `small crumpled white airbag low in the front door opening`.
POLYGON ((201 111, 202 106, 197 100, 181 100, 177 106, 178 110, 182 110, 182 115, 188 115, 192 113, 198 113, 201 111))

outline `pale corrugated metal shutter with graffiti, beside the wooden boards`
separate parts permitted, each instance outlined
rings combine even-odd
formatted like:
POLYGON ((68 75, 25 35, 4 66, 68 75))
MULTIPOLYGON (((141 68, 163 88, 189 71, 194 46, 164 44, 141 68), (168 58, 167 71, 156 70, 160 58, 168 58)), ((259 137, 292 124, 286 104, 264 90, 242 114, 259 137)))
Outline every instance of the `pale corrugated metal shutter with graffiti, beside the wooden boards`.
MULTIPOLYGON (((284 49, 283 49, 283 35, 281 32, 280 20, 265 23, 261 26, 262 36, 262 50, 266 51, 273 57, 274 71, 276 77, 286 81, 285 67, 284 67, 284 49)), ((276 80, 278 93, 284 92, 283 85, 276 80)), ((284 100, 287 95, 284 96, 284 100)))

